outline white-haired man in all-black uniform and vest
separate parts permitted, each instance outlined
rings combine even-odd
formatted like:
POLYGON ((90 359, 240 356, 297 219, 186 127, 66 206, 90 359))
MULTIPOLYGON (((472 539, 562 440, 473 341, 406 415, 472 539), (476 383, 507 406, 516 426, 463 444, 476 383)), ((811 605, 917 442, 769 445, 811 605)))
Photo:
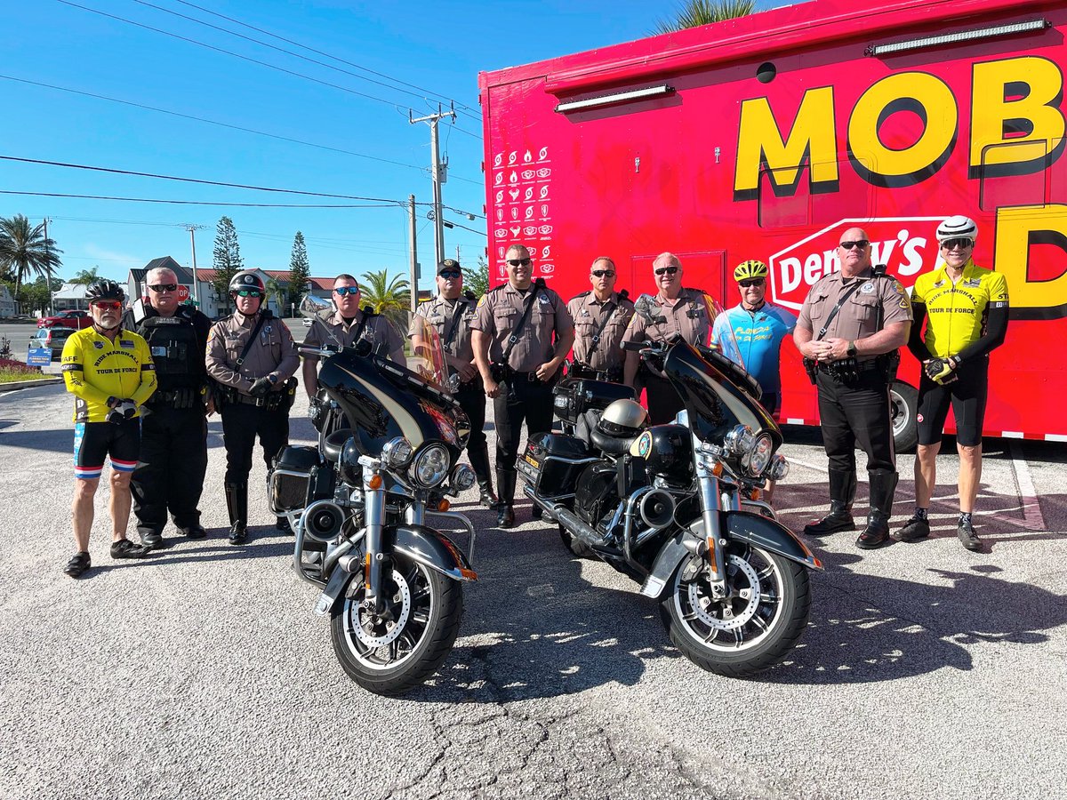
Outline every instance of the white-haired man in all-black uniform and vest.
POLYGON ((148 342, 159 388, 141 410, 141 457, 130 489, 141 543, 159 547, 168 509, 187 538, 207 535, 197 506, 207 471, 204 353, 211 322, 178 304, 172 270, 150 270, 145 285, 147 293, 126 311, 123 327, 148 342))

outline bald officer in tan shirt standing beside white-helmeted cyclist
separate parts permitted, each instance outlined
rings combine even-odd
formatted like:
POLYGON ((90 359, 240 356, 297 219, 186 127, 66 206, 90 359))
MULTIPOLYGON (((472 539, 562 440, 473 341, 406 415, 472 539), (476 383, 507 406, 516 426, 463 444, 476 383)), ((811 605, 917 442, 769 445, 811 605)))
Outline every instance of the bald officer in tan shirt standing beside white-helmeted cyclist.
POLYGON ((805 527, 809 535, 856 530, 856 443, 867 457, 871 512, 856 540, 863 549, 889 542, 896 455, 889 384, 897 349, 907 342, 911 303, 901 283, 871 266, 862 228, 841 237, 841 271, 816 283, 800 308, 793 340, 818 388, 823 445, 830 461, 830 513, 805 527))

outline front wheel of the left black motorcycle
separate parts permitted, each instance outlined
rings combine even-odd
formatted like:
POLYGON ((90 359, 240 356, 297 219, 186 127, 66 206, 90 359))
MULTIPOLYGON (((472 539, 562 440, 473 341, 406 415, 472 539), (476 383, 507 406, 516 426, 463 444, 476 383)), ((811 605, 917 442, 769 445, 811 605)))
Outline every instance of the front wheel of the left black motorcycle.
POLYGON ((402 694, 423 683, 448 657, 463 617, 463 590, 421 564, 394 557, 385 608, 362 606, 363 575, 354 574, 330 622, 334 653, 345 672, 376 694, 402 694), (351 597, 349 587, 355 585, 351 597))

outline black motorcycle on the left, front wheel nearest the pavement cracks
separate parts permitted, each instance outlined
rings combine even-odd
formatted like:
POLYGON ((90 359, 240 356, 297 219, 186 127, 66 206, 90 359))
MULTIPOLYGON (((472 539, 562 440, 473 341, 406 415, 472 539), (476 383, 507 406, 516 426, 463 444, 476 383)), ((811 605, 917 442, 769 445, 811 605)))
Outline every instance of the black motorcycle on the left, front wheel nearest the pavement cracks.
MULTIPOLYGON (((302 313, 333 339, 322 301, 306 298, 302 313)), ((336 340, 301 348, 322 359, 319 445, 285 448, 268 478, 271 510, 296 535, 297 573, 322 590, 315 613, 331 618, 337 660, 357 684, 388 695, 448 656, 462 582, 477 577, 471 559, 427 525, 437 517, 464 527, 473 553, 474 528, 446 499, 475 483, 458 463, 468 423, 448 391, 436 333, 412 319, 407 364, 336 340)))

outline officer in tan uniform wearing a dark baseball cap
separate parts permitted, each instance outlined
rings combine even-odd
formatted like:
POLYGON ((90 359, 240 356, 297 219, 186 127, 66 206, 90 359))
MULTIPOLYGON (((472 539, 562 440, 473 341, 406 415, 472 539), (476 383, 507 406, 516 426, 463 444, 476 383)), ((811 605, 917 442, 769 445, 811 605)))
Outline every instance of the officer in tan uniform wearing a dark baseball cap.
POLYGON ((474 363, 471 325, 475 319, 477 301, 474 294, 463 293, 463 270, 460 262, 446 258, 437 266, 437 297, 418 306, 416 315, 423 317, 437 332, 441 347, 448 359, 448 374, 456 375, 459 388, 456 399, 471 420, 467 455, 478 476, 481 502, 495 507, 493 479, 489 470, 489 444, 485 442, 485 389, 474 363))

